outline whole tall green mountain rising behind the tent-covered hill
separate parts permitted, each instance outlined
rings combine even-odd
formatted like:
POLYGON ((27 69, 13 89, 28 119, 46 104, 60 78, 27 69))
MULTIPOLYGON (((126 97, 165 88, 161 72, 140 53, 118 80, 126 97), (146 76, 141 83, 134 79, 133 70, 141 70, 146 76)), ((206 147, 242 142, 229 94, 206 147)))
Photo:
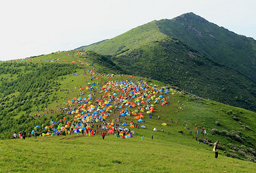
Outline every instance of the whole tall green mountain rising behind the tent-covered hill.
POLYGON ((129 74, 256 111, 255 40, 194 13, 152 21, 79 49, 113 55, 129 74))

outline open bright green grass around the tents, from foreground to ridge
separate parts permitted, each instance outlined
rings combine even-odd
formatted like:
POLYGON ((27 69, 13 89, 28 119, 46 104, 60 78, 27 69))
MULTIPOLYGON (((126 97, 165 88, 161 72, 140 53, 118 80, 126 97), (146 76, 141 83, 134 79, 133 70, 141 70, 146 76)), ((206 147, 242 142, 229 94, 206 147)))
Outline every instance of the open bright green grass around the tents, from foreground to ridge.
MULTIPOLYGON (((56 56, 61 59, 55 63, 71 63, 85 61, 92 62, 92 59, 87 57, 79 58, 75 55, 75 51, 68 53, 54 53, 51 56, 56 56), (73 53, 73 54, 72 54, 73 53)), ((43 55, 37 57, 33 62, 45 62, 53 57, 43 55)), ((55 58, 57 59, 57 58, 55 58)), ((97 69, 101 68, 99 64, 95 64, 97 69)), ((95 74, 86 73, 91 70, 91 66, 83 66, 76 69, 78 76, 65 75, 59 77, 59 86, 51 95, 47 102, 47 109, 52 108, 56 111, 53 114, 46 114, 45 118, 57 121, 57 117, 61 112, 57 110, 56 104, 65 103, 77 97, 80 93, 80 86, 87 86, 91 83, 91 75, 98 77, 93 83, 99 83, 97 86, 103 86, 107 81, 119 80, 146 80, 149 84, 163 86, 163 83, 145 79, 142 77, 130 77, 128 75, 115 75, 112 79, 107 79, 106 76, 96 76, 95 74), (85 67, 85 69, 83 69, 85 67), (77 89, 75 89, 77 87, 77 89), (65 91, 59 91, 64 89, 65 91), (69 92, 67 91, 69 90, 69 92), (71 92, 71 90, 74 90, 71 92), (55 98, 55 99, 53 99, 55 98), (56 102, 57 100, 57 102, 56 102)), ((111 71, 105 69, 106 71, 111 71)), ((85 96, 89 94, 89 90, 83 90, 85 96)), ((19 94, 18 92, 13 92, 19 94)), ((97 93, 96 97, 101 94, 97 93)), ((161 106, 155 104, 156 112, 153 117, 149 118, 146 112, 143 112, 146 128, 129 128, 135 130, 136 134, 133 138, 117 138, 113 134, 108 134, 103 140, 100 135, 93 137, 81 136, 81 134, 71 134, 67 136, 44 136, 34 138, 26 138, 25 140, 12 139, 0 140, 0 172, 255 172, 256 164, 240 159, 253 158, 250 154, 253 152, 255 140, 255 122, 256 113, 243 108, 235 108, 226 104, 221 104, 213 100, 201 99, 189 94, 167 94, 164 97, 169 97, 170 105, 161 106), (231 115, 227 114, 232 110, 240 121, 234 120, 231 115), (158 116, 161 118, 159 119, 158 116), (175 122, 179 119, 179 122, 175 122), (173 122, 171 122, 173 120, 173 122), (186 122, 185 122, 186 120, 186 122), (220 126, 215 124, 220 122, 220 126), (167 126, 162 126, 163 122, 167 122, 167 126), (185 129, 183 122, 188 124, 189 130, 193 130, 193 134, 189 135, 189 130, 185 129), (216 140, 225 150, 219 151, 219 158, 214 158, 215 153, 212 152, 213 147, 199 140, 205 138, 204 134, 197 134, 195 137, 195 124, 205 128, 209 134, 208 138, 211 142, 216 140), (245 128, 249 126, 251 130, 245 128), (153 131, 157 128, 157 132, 153 131), (161 131, 164 128, 164 132, 161 131), (211 134, 215 128, 222 132, 227 130, 230 134, 236 133, 243 139, 243 142, 238 142, 235 138, 223 136, 221 134, 211 134), (183 131, 183 133, 179 132, 183 131), (170 135, 168 135, 170 132, 170 135), (153 140, 151 140, 153 135, 153 140), (141 140, 144 136, 144 140, 141 140), (235 145, 235 147, 231 146, 235 145), (245 147, 243 146, 245 145, 245 147), (235 148, 235 149, 234 149, 235 148), (246 150, 247 155, 243 155, 246 150), (251 152, 249 152, 251 151, 251 152), (227 157, 233 156, 234 158, 227 157)), ((12 98, 10 98, 12 99, 12 98)), ((12 100, 9 102, 11 103, 12 100)), ((35 106, 32 107, 33 110, 35 106)), ((126 108, 126 107, 124 107, 126 108)), ((130 108, 131 111, 135 108, 130 108)), ((38 112, 33 111, 33 115, 38 112)), ((21 114, 19 112, 14 116, 19 120, 21 114)), ((107 118, 107 122, 112 122, 113 118, 117 118, 119 111, 111 113, 107 118)), ((67 118, 73 118, 74 115, 61 114, 67 118)), ((35 117, 35 122, 43 122, 44 117, 35 117)), ((28 118, 29 119, 29 118, 28 118)), ((134 116, 127 116, 127 120, 121 118, 121 123, 134 120, 134 116)), ((120 124, 121 124, 120 123, 120 124)), ((25 123, 24 123, 25 124, 25 123)), ((96 124, 100 124, 99 122, 96 124)), ((38 124, 41 126, 42 124, 38 124)), ((47 126, 49 124, 44 124, 47 126)), ((33 126, 34 127, 34 126, 33 126)), ((33 127, 28 126, 28 129, 33 130, 33 127)), ((253 160, 251 160, 253 161, 253 160)))

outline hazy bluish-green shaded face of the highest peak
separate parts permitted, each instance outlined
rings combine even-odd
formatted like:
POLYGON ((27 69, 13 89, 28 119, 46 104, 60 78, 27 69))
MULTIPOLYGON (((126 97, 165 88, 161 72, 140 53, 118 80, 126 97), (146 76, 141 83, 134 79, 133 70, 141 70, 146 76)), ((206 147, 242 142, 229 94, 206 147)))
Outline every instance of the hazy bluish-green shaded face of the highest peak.
POLYGON ((161 33, 175 37, 218 63, 256 81, 256 41, 186 13, 157 21, 161 33))

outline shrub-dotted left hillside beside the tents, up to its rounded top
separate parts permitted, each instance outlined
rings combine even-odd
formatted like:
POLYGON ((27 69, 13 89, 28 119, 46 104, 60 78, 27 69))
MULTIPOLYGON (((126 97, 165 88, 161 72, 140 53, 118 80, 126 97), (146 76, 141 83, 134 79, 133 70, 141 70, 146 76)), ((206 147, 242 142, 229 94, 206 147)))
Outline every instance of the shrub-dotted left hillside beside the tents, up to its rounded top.
POLYGON ((65 94, 59 96, 58 92, 71 85, 76 77, 73 74, 81 75, 79 83, 82 84, 90 80, 90 75, 86 75, 87 79, 83 77, 87 70, 121 73, 120 67, 109 58, 90 52, 78 55, 77 51, 6 61, 0 63, 0 67, 1 139, 9 138, 14 131, 43 124, 43 118, 34 119, 35 115, 49 114, 49 105, 65 98, 65 94))

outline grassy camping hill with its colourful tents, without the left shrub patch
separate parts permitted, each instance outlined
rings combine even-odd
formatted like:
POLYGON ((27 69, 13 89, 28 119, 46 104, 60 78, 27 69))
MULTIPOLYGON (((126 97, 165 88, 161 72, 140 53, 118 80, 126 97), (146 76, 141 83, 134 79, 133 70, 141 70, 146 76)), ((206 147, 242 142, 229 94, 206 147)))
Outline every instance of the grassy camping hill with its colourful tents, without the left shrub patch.
POLYGON ((187 94, 152 79, 115 72, 104 74, 102 71, 109 69, 97 63, 102 59, 93 61, 92 57, 95 59, 95 54, 89 51, 83 55, 69 51, 5 62, 11 66, 18 62, 71 65, 73 70, 58 77, 57 87, 47 95, 47 106, 38 108, 32 104, 13 117, 26 118, 27 125, 25 129, 11 128, 6 133, 9 140, 0 141, 4 172, 48 172, 53 168, 64 172, 197 172, 205 166, 207 171, 216 170, 215 164, 221 172, 255 170, 255 164, 244 161, 253 159, 253 150, 249 152, 251 149, 240 146, 239 141, 255 141, 254 112, 187 94), (233 120, 233 114, 240 120, 233 120), (31 132, 31 138, 12 138, 14 131, 23 130, 31 132), (222 134, 224 130, 229 137, 222 134), (35 131, 37 138, 33 136, 35 131), (104 140, 102 132, 106 134, 104 140), (216 140, 221 141, 221 150, 218 160, 213 160, 216 140), (243 155, 243 150, 248 154, 243 155), (187 166, 191 160, 195 164, 187 166))

